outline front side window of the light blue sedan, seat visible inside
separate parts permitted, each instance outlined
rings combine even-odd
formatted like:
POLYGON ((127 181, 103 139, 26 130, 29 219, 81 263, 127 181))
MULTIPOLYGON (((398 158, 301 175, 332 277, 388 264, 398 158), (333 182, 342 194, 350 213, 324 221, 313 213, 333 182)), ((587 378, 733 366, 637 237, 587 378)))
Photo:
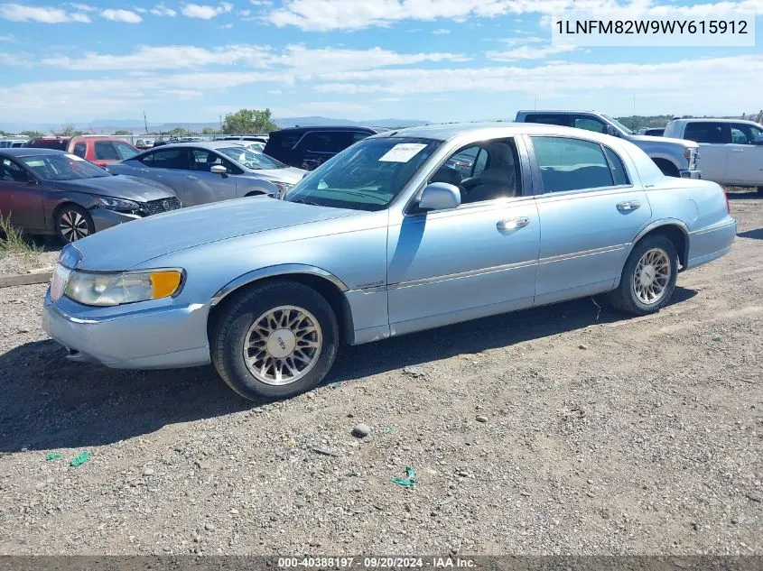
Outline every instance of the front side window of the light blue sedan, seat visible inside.
POLYGON ((514 140, 498 139, 453 153, 430 182, 457 186, 461 190, 461 204, 473 204, 521 196, 520 180, 514 140))

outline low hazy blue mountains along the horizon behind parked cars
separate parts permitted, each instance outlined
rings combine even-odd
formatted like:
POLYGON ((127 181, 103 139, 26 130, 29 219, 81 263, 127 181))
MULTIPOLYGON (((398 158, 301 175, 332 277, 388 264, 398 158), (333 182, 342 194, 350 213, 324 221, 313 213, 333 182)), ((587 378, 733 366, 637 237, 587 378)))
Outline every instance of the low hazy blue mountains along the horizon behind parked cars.
MULTIPOLYGON (((413 119, 373 119, 369 121, 349 121, 348 119, 332 119, 330 117, 307 116, 307 117, 276 117, 275 124, 279 127, 293 127, 301 125, 311 127, 316 125, 368 125, 373 127, 415 127, 423 124, 429 124, 428 121, 416 121, 413 119)), ((21 133, 22 131, 39 131, 40 133, 51 133, 60 129, 61 124, 55 123, 0 123, 0 130, 6 133, 21 133)), ((200 132, 205 127, 210 129, 219 129, 219 122, 209 123, 149 123, 148 130, 151 132, 168 133, 172 129, 188 129, 189 131, 200 132)), ((86 131, 94 134, 113 134, 115 131, 133 131, 135 134, 142 134, 145 131, 143 121, 135 119, 98 119, 90 123, 76 123, 74 128, 78 131, 86 131)))

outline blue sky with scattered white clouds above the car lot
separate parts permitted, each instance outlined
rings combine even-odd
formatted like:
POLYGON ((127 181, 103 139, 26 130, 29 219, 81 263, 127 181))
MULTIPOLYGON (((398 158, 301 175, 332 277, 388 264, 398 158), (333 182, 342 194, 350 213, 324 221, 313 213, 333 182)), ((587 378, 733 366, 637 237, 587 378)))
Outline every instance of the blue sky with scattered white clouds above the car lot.
MULTIPOLYGON (((633 1, 661 14, 763 14, 763 0, 633 1)), ((241 107, 444 122, 534 106, 630 115, 634 99, 641 115, 763 107, 763 18, 755 47, 564 49, 551 44, 548 21, 565 5, 0 0, 0 122, 142 119, 144 111, 151 123, 207 122, 241 107)))

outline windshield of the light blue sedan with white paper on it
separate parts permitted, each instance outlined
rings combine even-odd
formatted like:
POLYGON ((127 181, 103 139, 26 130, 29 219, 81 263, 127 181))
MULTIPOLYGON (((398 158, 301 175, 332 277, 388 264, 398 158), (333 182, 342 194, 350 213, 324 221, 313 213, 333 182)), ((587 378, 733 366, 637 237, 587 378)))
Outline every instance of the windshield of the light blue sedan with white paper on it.
POLYGON ((366 139, 324 162, 284 200, 323 207, 383 210, 432 156, 439 141, 366 139))

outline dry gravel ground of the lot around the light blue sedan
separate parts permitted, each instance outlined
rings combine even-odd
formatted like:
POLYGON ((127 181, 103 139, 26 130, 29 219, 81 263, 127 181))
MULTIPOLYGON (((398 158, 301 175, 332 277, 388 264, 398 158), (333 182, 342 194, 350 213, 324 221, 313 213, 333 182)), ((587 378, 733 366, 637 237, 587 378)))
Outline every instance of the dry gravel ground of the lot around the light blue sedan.
POLYGON ((0 290, 0 553, 763 555, 763 200, 732 198, 732 253, 657 316, 351 347, 265 406, 211 367, 70 364, 45 287, 0 290))

